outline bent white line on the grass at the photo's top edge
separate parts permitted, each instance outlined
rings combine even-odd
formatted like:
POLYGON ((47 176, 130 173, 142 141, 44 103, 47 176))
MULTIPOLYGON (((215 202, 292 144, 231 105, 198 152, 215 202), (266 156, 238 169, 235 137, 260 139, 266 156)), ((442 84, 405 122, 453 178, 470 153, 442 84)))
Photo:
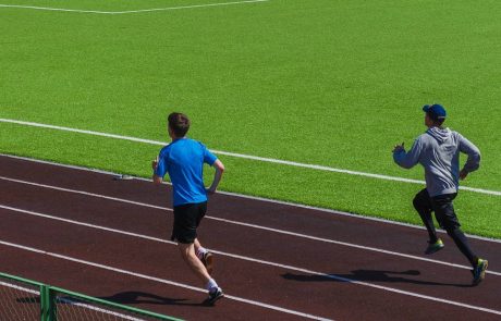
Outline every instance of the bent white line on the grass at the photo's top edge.
POLYGON ((257 2, 267 2, 267 1, 269 1, 269 0, 246 0, 246 1, 233 1, 233 2, 219 2, 219 3, 180 5, 180 7, 169 7, 169 8, 127 10, 127 11, 78 10, 78 9, 48 8, 48 7, 35 7, 35 5, 19 5, 19 4, 0 4, 0 8, 33 9, 33 10, 45 10, 45 11, 77 12, 77 13, 124 14, 124 13, 171 11, 171 10, 181 10, 181 9, 196 9, 196 8, 209 8, 209 7, 257 3, 257 2))

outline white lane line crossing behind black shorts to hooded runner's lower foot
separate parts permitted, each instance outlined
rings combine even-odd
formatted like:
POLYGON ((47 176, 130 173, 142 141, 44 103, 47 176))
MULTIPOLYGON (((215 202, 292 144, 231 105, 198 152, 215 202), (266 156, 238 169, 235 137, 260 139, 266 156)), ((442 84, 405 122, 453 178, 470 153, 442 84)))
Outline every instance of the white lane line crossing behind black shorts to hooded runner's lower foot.
MULTIPOLYGON (((167 207, 159 207, 159 206, 149 205, 149 203, 145 203, 145 202, 132 201, 132 200, 117 198, 117 197, 109 197, 109 196, 103 196, 103 195, 99 195, 99 194, 93 194, 93 193, 88 193, 88 192, 82 192, 82 190, 62 188, 62 187, 50 186, 50 185, 45 185, 45 184, 25 182, 25 181, 20 181, 20 180, 14 180, 14 178, 8 178, 8 177, 3 177, 3 176, 0 176, 0 180, 14 182, 14 183, 26 184, 26 185, 32 185, 32 186, 37 186, 37 187, 44 187, 44 188, 49 188, 49 189, 54 189, 54 190, 61 190, 61 192, 66 192, 66 193, 91 196, 91 197, 97 197, 97 198, 102 198, 102 199, 109 199, 109 200, 113 200, 113 201, 131 203, 131 205, 135 205, 135 206, 139 206, 139 207, 150 208, 150 209, 172 211, 171 208, 167 208, 167 207)), ((8 207, 8 206, 2 206, 2 205, 0 205, 0 208, 24 211, 22 209, 8 207)), ((27 212, 27 211, 25 211, 25 212, 27 212)), ((278 233, 278 234, 300 237, 300 238, 306 238, 306 239, 316 240, 316 242, 322 242, 322 243, 335 244, 335 245, 341 245, 341 246, 346 246, 346 247, 352 247, 352 248, 358 248, 358 249, 363 249, 363 250, 369 250, 369 251, 375 251, 375 252, 379 252, 379 254, 386 254, 386 255, 391 255, 391 256, 396 256, 396 257, 403 257, 403 258, 413 259, 413 260, 432 262, 432 263, 453 267, 453 268, 459 268, 459 269, 465 269, 465 270, 471 270, 472 269, 471 267, 467 267, 467 266, 450 263, 450 262, 444 262, 444 261, 423 258, 423 257, 418 257, 418 256, 406 255, 406 254, 396 252, 396 251, 390 251, 390 250, 386 250, 386 249, 381 249, 381 248, 363 246, 363 245, 357 245, 357 244, 352 244, 352 243, 346 243, 346 242, 341 242, 341 240, 334 240, 334 239, 329 239, 329 238, 322 238, 322 237, 317 237, 317 236, 311 236, 311 235, 307 235, 307 234, 301 234, 301 233, 295 233, 295 232, 290 232, 290 231, 284 231, 284 230, 279 230, 279 229, 272 229, 272 227, 267 227, 267 226, 252 224, 252 223, 232 221, 232 220, 227 220, 227 219, 211 217, 211 215, 206 215, 205 218, 209 219, 209 220, 224 222, 224 223, 228 223, 228 224, 246 226, 246 227, 252 227, 252 229, 256 229, 256 230, 268 231, 268 232, 273 232, 273 233, 278 233)), ((487 273, 493 274, 493 275, 501 275, 501 272, 496 272, 496 271, 490 271, 490 270, 487 271, 487 273)))

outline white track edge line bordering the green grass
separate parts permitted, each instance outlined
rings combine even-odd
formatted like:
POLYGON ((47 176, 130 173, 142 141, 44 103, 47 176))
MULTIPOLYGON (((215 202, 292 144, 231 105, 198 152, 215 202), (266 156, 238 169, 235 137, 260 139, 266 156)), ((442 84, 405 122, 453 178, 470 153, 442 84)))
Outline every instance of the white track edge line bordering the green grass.
MULTIPOLYGON (((21 156, 0 153, 0 157, 7 157, 7 158, 11 158, 11 159, 16 159, 16 160, 24 160, 24 161, 29 161, 29 162, 35 162, 35 163, 48 164, 48 165, 52 165, 52 166, 57 166, 57 168, 64 168, 64 169, 72 169, 72 170, 90 172, 90 173, 99 173, 99 174, 105 174, 105 175, 119 176, 118 173, 113 173, 113 172, 109 172, 109 171, 97 170, 97 169, 88 169, 88 168, 83 168, 83 166, 77 166, 77 165, 61 164, 61 163, 56 163, 56 162, 51 162, 51 161, 45 161, 45 160, 33 159, 33 158, 21 157, 21 156)), ((143 182, 151 182, 151 178, 145 178, 145 177, 134 177, 134 180, 143 181, 143 182)), ((162 182, 162 184, 172 185, 170 182, 162 182)), ((224 190, 219 190, 218 193, 222 194, 222 195, 239 197, 239 198, 253 199, 253 200, 265 201, 265 202, 270 202, 270 203, 284 205, 284 206, 288 206, 288 207, 295 207, 295 208, 301 208, 301 209, 320 211, 320 212, 325 212, 325 213, 329 213, 329 214, 333 214, 333 215, 342 215, 342 217, 355 218, 355 219, 365 220, 365 221, 375 221, 375 222, 380 222, 380 223, 384 223, 384 224, 399 225, 399 226, 405 226, 405 227, 417 229, 417 230, 426 230, 424 226, 420 226, 420 225, 414 225, 414 224, 411 224, 411 223, 390 221, 388 219, 361 215, 361 214, 356 214, 356 213, 349 213, 349 212, 343 212, 343 211, 338 211, 338 210, 325 209, 325 208, 319 208, 319 207, 314 207, 314 206, 307 206, 307 205, 295 203, 295 202, 283 201, 283 200, 277 200, 277 199, 269 199, 269 198, 257 197, 257 196, 243 195, 243 194, 224 192, 224 190)), ((440 232, 440 233, 445 233, 445 231, 440 230, 440 229, 438 229, 437 231, 440 232)), ((486 242, 501 243, 501 239, 491 238, 491 237, 471 235, 471 234, 467 234, 467 236, 471 237, 471 238, 481 239, 481 240, 486 240, 486 242)))

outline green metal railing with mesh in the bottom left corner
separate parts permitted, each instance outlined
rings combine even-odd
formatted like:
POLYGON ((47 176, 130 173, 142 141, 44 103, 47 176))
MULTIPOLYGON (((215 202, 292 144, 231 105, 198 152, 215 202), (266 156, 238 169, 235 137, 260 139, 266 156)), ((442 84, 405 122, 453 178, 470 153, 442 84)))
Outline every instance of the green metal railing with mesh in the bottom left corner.
MULTIPOLYGON (((163 316, 150 311, 145 311, 142 309, 133 308, 130 306, 124 306, 115 304, 112 301, 99 299, 96 297, 87 296, 81 293, 71 292, 64 288, 50 286, 32 280, 10 275, 7 273, 0 273, 0 289, 2 287, 10 288, 12 292, 17 292, 14 296, 19 296, 19 293, 28 293, 32 296, 36 296, 37 299, 30 298, 29 303, 39 305, 39 320, 41 321, 58 321, 64 320, 62 318, 63 310, 78 309, 78 316, 82 316, 82 319, 85 320, 85 311, 91 311, 93 313, 102 313, 102 316, 110 316, 112 320, 170 320, 170 321, 180 321, 169 316, 163 316), (21 286, 20 286, 21 285, 21 286), (28 287, 23 287, 23 285, 28 287), (59 311, 58 311, 59 310, 59 311), (138 319, 145 318, 145 319, 138 319)), ((5 298, 2 297, 0 292, 0 309, 2 309, 2 300, 5 298)), ((16 298, 15 307, 9 306, 9 308, 3 307, 3 310, 15 312, 15 309, 23 309, 23 301, 26 301, 26 298, 16 298)), ((4 303, 5 304, 5 303, 4 303)), ((1 313, 1 312, 0 312, 1 313)), ((19 311, 22 316, 30 316, 29 312, 19 311)), ((30 312, 34 313, 33 311, 30 312)), ((89 312, 90 313, 90 312, 89 312)), ((73 314, 72 314, 73 316, 73 314)), ((0 314, 1 317, 1 314, 0 314)), ((23 320, 26 317, 23 317, 23 320)), ((70 318, 70 317, 69 317, 70 318)), ((81 317, 78 317, 81 318, 81 317)), ((35 319, 34 319, 35 320, 35 319)), ((38 316, 37 316, 38 320, 38 316)), ((71 320, 71 319, 68 319, 71 320)), ((95 320, 95 319, 93 319, 95 320)))

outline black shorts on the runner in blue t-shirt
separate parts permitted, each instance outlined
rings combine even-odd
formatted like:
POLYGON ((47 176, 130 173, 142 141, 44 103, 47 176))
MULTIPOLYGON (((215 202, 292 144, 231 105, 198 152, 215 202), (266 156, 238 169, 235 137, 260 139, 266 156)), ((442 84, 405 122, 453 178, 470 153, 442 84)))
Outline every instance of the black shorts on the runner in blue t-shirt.
POLYGON ((197 237, 196 229, 207 212, 207 201, 174 207, 174 225, 171 239, 192 244, 197 237))

